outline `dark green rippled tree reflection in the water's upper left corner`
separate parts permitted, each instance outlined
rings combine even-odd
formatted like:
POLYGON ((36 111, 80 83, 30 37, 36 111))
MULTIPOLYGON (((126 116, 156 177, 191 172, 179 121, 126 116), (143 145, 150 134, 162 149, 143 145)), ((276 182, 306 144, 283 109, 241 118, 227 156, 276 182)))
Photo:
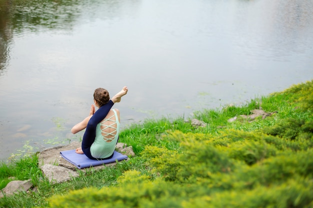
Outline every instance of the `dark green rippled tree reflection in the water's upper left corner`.
POLYGON ((71 30, 79 16, 76 0, 0 0, 0 70, 9 58, 15 35, 47 29, 71 30))

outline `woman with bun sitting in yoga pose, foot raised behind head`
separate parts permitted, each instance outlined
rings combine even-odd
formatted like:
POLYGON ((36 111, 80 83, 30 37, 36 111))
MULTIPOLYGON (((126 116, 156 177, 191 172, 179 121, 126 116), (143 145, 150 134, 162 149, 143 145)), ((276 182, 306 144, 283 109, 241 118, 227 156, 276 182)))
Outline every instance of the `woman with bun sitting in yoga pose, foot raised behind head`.
POLYGON ((109 99, 107 90, 97 88, 93 93, 94 105, 99 109, 95 111, 91 105, 89 116, 73 126, 71 133, 86 129, 81 148, 76 153, 85 154, 89 159, 103 160, 113 156, 119 132, 119 111, 110 110, 114 103, 120 102, 122 96, 127 94, 127 87, 109 99))

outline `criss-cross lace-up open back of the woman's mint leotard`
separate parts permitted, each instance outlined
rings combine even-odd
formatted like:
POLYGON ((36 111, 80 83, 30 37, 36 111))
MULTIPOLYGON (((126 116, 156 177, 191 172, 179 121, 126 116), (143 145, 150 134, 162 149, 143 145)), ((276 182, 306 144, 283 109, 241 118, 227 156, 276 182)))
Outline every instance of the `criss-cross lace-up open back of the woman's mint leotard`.
POLYGON ((100 130, 103 137, 103 140, 105 142, 111 142, 114 140, 117 132, 117 128, 119 125, 118 117, 116 114, 116 111, 112 109, 114 114, 110 116, 109 118, 103 119, 100 122, 100 130), (115 118, 114 118, 115 117, 115 118))

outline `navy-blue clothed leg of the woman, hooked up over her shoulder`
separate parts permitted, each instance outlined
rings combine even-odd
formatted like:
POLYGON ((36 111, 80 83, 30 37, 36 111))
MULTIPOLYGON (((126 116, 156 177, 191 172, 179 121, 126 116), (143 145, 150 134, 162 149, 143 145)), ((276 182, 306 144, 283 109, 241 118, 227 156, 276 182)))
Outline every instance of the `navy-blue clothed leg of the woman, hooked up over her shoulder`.
POLYGON ((86 127, 86 131, 83 134, 82 137, 82 142, 81 142, 81 149, 83 151, 83 153, 89 158, 89 159, 95 159, 91 156, 90 153, 90 147, 92 145, 92 143, 94 142, 95 139, 95 128, 96 125, 98 123, 100 123, 100 121, 102 121, 106 115, 108 114, 108 112, 110 111, 111 107, 114 105, 114 103, 109 100, 108 103, 106 103, 105 105, 101 106, 97 111, 95 111, 95 113, 93 114, 93 116, 90 118, 90 120, 88 121, 87 127, 86 127))

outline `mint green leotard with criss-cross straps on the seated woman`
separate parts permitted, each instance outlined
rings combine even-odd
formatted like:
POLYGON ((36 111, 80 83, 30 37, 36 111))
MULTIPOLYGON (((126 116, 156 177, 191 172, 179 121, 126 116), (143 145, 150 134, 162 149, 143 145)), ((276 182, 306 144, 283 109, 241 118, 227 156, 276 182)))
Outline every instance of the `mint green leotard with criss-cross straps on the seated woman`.
POLYGON ((119 133, 119 121, 116 114, 116 111, 113 109, 114 115, 109 117, 108 119, 104 119, 102 122, 98 123, 95 130, 95 139, 90 147, 90 153, 91 156, 94 158, 107 158, 111 156, 115 150, 115 145, 118 138, 119 133), (115 116, 115 120, 112 118, 115 116), (113 121, 111 125, 105 125, 105 121, 113 121), (116 123, 116 128, 113 127, 113 125, 116 123), (101 131, 102 126, 102 131, 101 131), (104 128, 103 128, 104 127, 104 128), (111 133, 106 133, 104 130, 106 128, 113 128, 115 129, 111 133), (105 136, 102 136, 102 132, 106 134, 105 136), (108 135, 113 135, 112 138, 107 138, 108 135))

